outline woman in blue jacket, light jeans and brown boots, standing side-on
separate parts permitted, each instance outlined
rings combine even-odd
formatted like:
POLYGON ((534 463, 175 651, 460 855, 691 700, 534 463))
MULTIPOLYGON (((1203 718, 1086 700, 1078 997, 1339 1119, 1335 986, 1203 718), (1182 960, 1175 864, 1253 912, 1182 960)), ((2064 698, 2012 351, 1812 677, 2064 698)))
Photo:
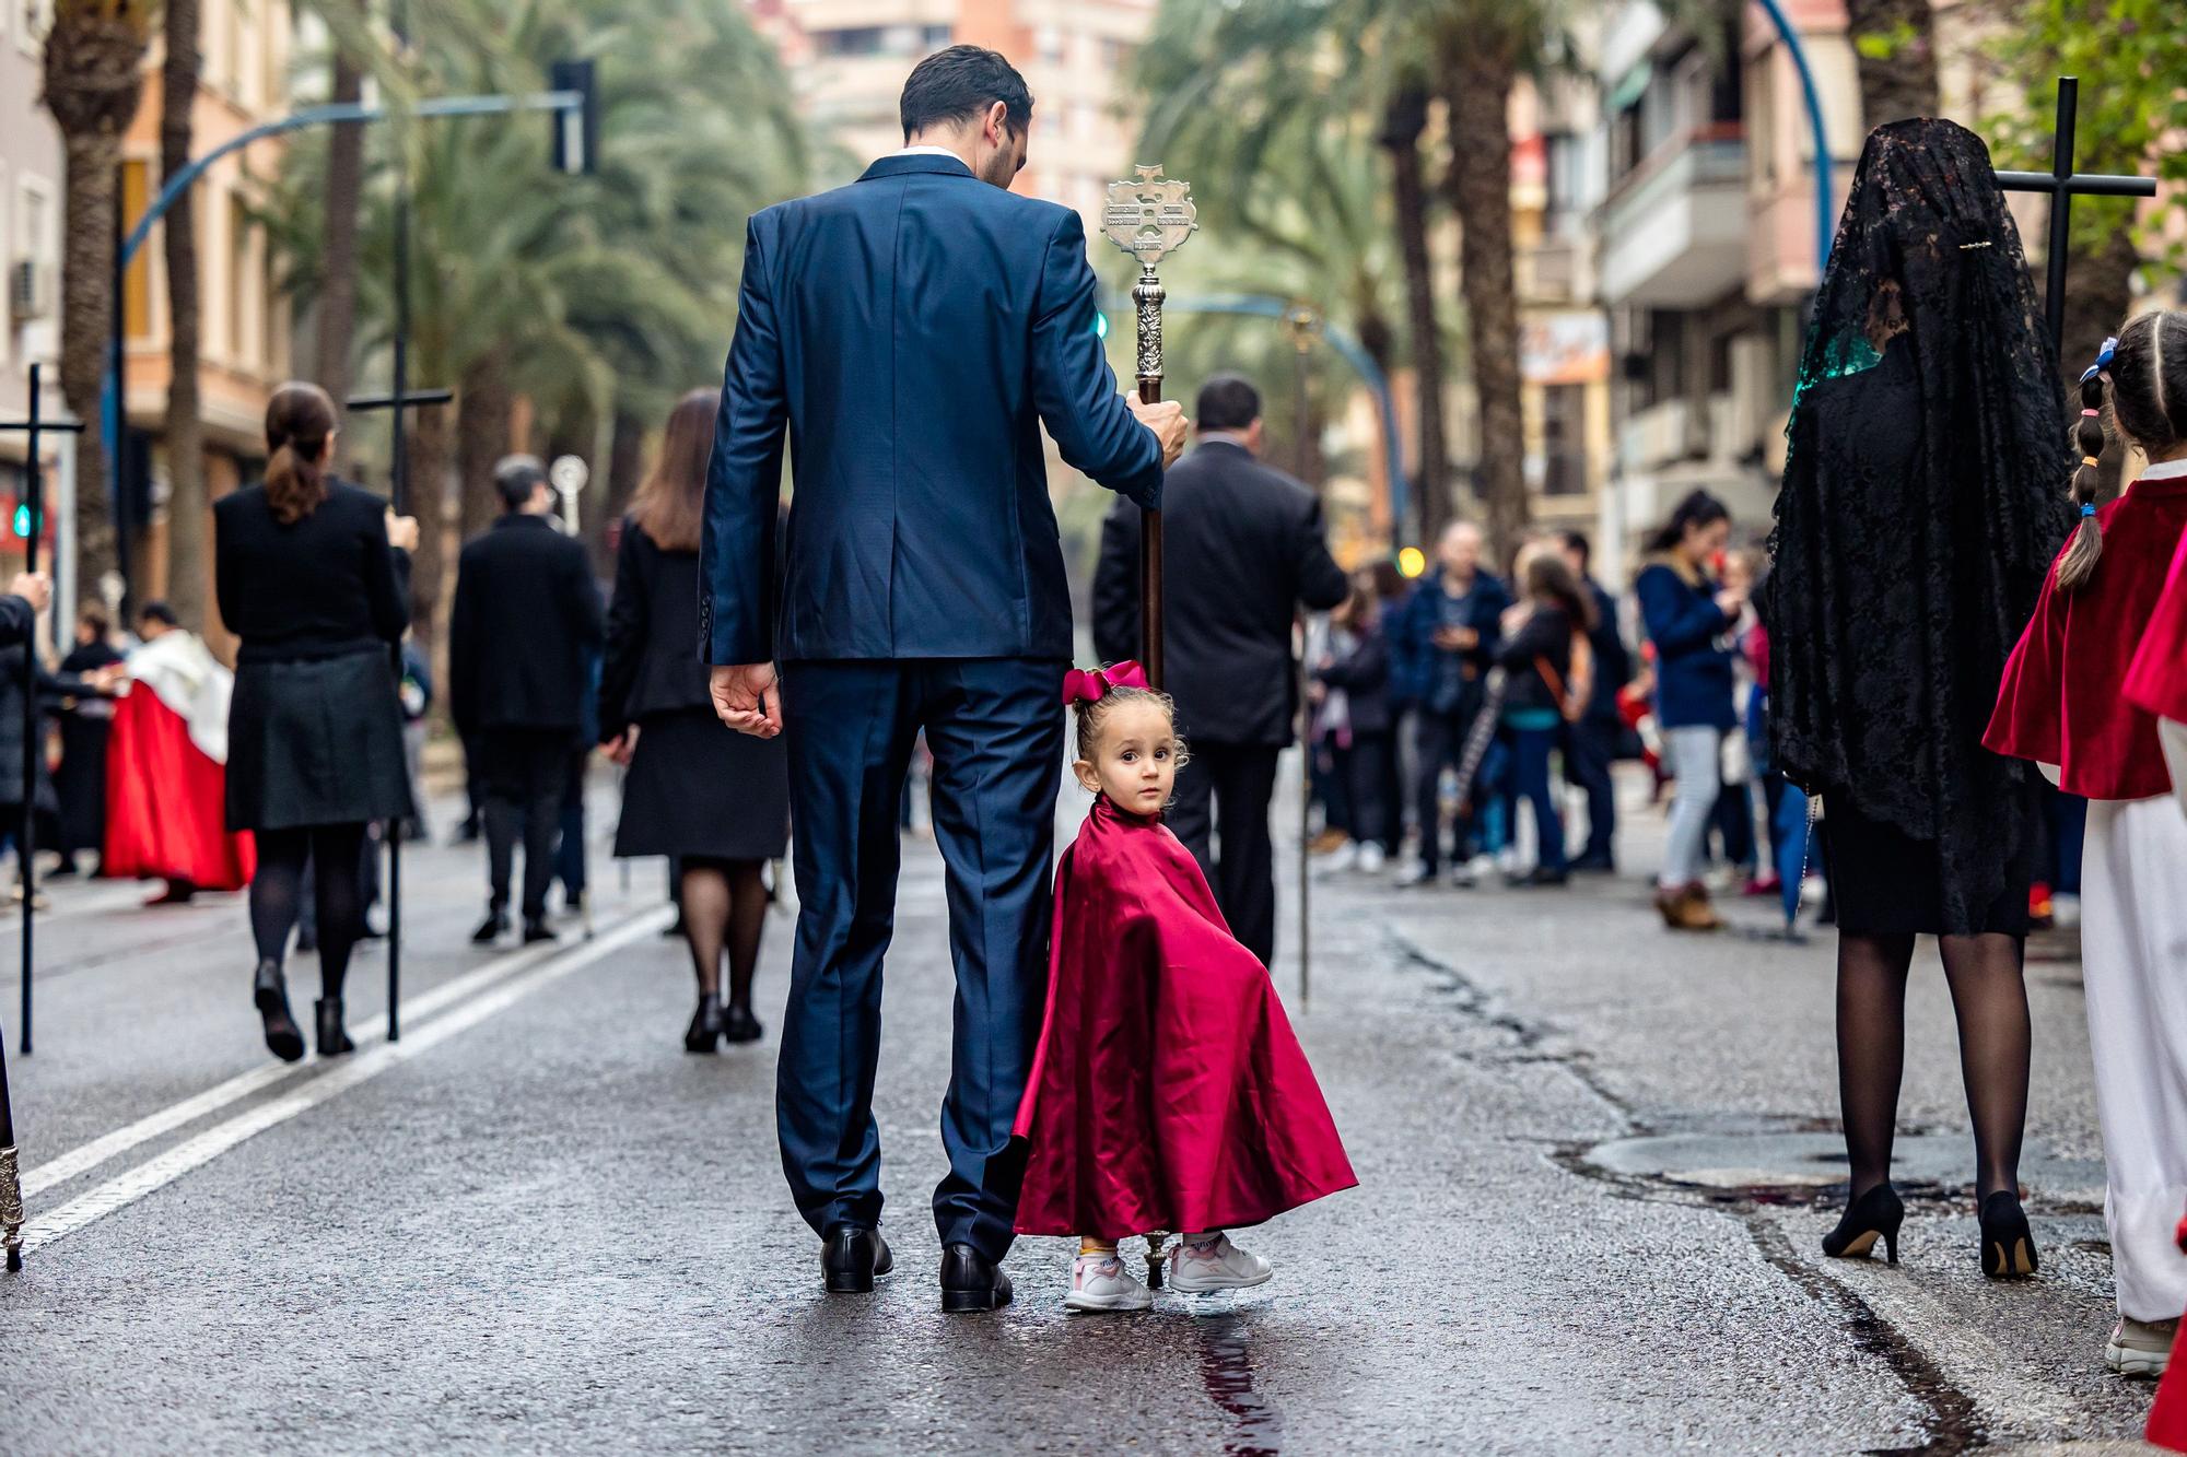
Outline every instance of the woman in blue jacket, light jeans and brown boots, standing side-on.
POLYGON ((1730 534, 1732 514, 1706 490, 1695 490, 1649 543, 1649 564, 1634 582, 1642 630, 1656 643, 1664 768, 1677 779, 1671 842, 1656 879, 1656 910, 1673 930, 1723 925, 1701 884, 1701 847, 1723 783, 1723 735, 1739 722, 1728 632, 1745 599, 1710 575, 1730 534))

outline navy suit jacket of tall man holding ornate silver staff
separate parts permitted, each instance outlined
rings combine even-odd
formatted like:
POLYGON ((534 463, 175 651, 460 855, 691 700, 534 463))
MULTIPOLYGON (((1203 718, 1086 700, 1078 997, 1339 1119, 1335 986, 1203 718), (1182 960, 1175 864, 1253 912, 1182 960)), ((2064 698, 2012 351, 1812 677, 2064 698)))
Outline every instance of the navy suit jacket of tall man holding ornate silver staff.
POLYGON ((1078 214, 956 158, 881 158, 755 214, 706 475, 706 661, 1072 656, 1039 427, 1161 501, 1094 304, 1078 214))

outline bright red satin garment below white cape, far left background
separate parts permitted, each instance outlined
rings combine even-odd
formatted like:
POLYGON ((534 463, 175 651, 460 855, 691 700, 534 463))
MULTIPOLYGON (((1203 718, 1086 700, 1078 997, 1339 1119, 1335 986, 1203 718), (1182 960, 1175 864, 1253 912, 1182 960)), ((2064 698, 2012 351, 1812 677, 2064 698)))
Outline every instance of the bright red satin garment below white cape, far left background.
POLYGON ((142 685, 114 702, 98 869, 188 879, 199 890, 241 890, 258 869, 249 831, 227 831, 227 768, 192 744, 182 713, 142 685))

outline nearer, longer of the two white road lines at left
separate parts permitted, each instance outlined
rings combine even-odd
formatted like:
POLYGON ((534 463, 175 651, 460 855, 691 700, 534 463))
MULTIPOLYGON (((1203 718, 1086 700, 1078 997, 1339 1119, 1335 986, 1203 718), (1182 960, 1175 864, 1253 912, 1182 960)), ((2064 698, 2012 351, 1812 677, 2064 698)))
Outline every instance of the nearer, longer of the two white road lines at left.
MULTIPOLYGON (((92 1190, 87 1190, 87 1192, 70 1199, 59 1210, 52 1210, 50 1214, 42 1214, 42 1216, 33 1219, 24 1227, 24 1247, 26 1249, 39 1249, 44 1245, 50 1245, 52 1240, 59 1240, 59 1238, 66 1238, 66 1236, 74 1234, 77 1229, 85 1227, 87 1223, 92 1223, 96 1219, 103 1219, 103 1216, 112 1214, 114 1210, 120 1210, 120 1208, 127 1208, 127 1205, 136 1203, 144 1194, 173 1184, 175 1179, 179 1179, 182 1175, 190 1173, 192 1168, 203 1168, 206 1164, 210 1164, 219 1155, 227 1153, 230 1149, 234 1149, 243 1140, 247 1140, 247 1138, 252 1138, 256 1133, 265 1133, 267 1129, 271 1129, 276 1124, 282 1124, 282 1122, 291 1120, 291 1118, 295 1118, 297 1114, 304 1114, 304 1111, 308 1111, 313 1107, 319 1107, 328 1098, 335 1098, 335 1096, 339 1096, 339 1094, 356 1087, 359 1083, 376 1079, 378 1074, 387 1072, 389 1068, 396 1068, 398 1063, 409 1061, 411 1057, 418 1057, 420 1052, 429 1052, 431 1048, 437 1048, 440 1044, 448 1041, 457 1033, 475 1028, 477 1024, 486 1022, 488 1017, 492 1017, 492 1015, 496 1015, 496 1013, 514 1006, 523 998, 531 995, 540 987, 545 987, 545 984, 549 984, 553 980, 564 978, 571 971, 577 971, 580 967, 588 967, 595 960, 608 956, 610 952, 619 952, 621 947, 630 945, 632 941, 639 941, 641 936, 658 932, 660 925, 667 923, 667 919, 669 919, 669 908, 663 906, 658 910, 650 910, 650 912, 630 917, 628 921, 623 921, 615 930, 604 932, 597 939, 586 941, 586 943, 582 943, 577 947, 571 947, 571 949, 536 947, 538 954, 534 954, 534 958, 529 963, 523 963, 523 954, 510 956, 510 958, 505 958, 505 963, 518 963, 518 965, 512 967, 512 965, 496 963, 499 976, 494 976, 496 967, 481 967, 479 971, 472 971, 470 978, 459 978, 459 980, 468 980, 470 989, 479 989, 486 980, 499 980, 501 984, 494 987, 494 989, 490 989, 490 991, 481 991, 479 995, 472 995, 470 1000, 464 1000, 459 1006, 455 1006, 444 1017, 435 1017, 433 1022, 426 1022, 424 1026, 405 1033, 402 1041, 383 1041, 383 1044, 378 1044, 374 1048, 354 1052, 348 1059, 343 1059, 341 1063, 337 1063, 332 1070, 321 1072, 319 1076, 306 1081, 302 1087, 295 1087, 295 1089, 282 1094, 280 1098, 269 1098, 269 1100, 265 1100, 265 1103, 260 1103, 256 1107, 249 1107, 249 1109, 236 1114, 234 1118, 225 1120, 225 1122, 217 1122, 210 1129, 206 1129, 203 1133, 197 1133, 195 1138, 186 1138, 184 1142, 175 1144, 166 1153, 162 1153, 157 1157, 151 1157, 144 1164, 138 1164, 136 1168, 129 1168, 129 1170, 125 1170, 125 1173, 107 1179, 105 1184, 101 1184, 101 1186, 96 1186, 96 1188, 92 1188, 92 1190)), ((451 993, 455 987, 457 987, 457 982, 451 982, 448 987, 440 987, 433 995, 437 995, 437 993, 451 993)), ((446 1002, 446 1000, 448 998, 442 998, 442 1002, 446 1002)), ((418 1002, 422 1004, 422 1002, 426 1002, 426 998, 418 998, 418 1002)), ((405 1002, 405 1006, 411 1006, 411 1004, 405 1002)), ((232 1079, 232 1083, 223 1083, 223 1087, 230 1087, 234 1083, 243 1083, 249 1076, 254 1076, 254 1074, 243 1074, 243 1079, 232 1079)), ((269 1081, 273 1081, 273 1079, 269 1079, 269 1081)), ((214 1089, 214 1092, 219 1092, 219 1089, 214 1089)), ((201 1096, 210 1096, 210 1094, 201 1094, 201 1096)), ((241 1094, 236 1094, 236 1096, 241 1096, 241 1094)), ((186 1107, 186 1105, 177 1105, 177 1107, 186 1107)), ((173 1109, 168 1109, 168 1111, 173 1111, 173 1109)), ((131 1124, 131 1127, 136 1127, 136 1124, 131 1124)), ((114 1138, 114 1135, 109 1135, 109 1138, 114 1138)), ((142 1140, 138 1140, 138 1142, 142 1142, 142 1140)), ((79 1149, 77 1153, 63 1155, 63 1157, 74 1159, 77 1155, 85 1153, 87 1149, 96 1149, 96 1144, 85 1144, 85 1149, 79 1149)), ((103 1155, 103 1157, 112 1157, 112 1155, 103 1155)), ((46 1164, 42 1168, 50 1168, 50 1166, 52 1164, 46 1164)), ((48 1179, 46 1186, 50 1186, 50 1184, 52 1181, 48 1179)))

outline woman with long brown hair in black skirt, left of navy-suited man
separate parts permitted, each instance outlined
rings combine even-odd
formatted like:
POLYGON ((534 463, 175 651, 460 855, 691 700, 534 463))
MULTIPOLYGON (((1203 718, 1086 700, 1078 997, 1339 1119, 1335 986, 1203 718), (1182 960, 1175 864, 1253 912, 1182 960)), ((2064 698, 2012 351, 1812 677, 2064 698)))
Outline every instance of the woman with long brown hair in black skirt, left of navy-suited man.
POLYGON ((790 844, 790 759, 781 739, 724 726, 698 656, 698 534, 717 389, 669 413, 660 459, 639 488, 615 562, 599 733, 630 766, 617 855, 676 855, 682 928, 698 971, 685 1048, 757 1041, 752 967, 768 914, 761 864, 790 844), (728 952, 728 1009, 722 952, 728 952))

